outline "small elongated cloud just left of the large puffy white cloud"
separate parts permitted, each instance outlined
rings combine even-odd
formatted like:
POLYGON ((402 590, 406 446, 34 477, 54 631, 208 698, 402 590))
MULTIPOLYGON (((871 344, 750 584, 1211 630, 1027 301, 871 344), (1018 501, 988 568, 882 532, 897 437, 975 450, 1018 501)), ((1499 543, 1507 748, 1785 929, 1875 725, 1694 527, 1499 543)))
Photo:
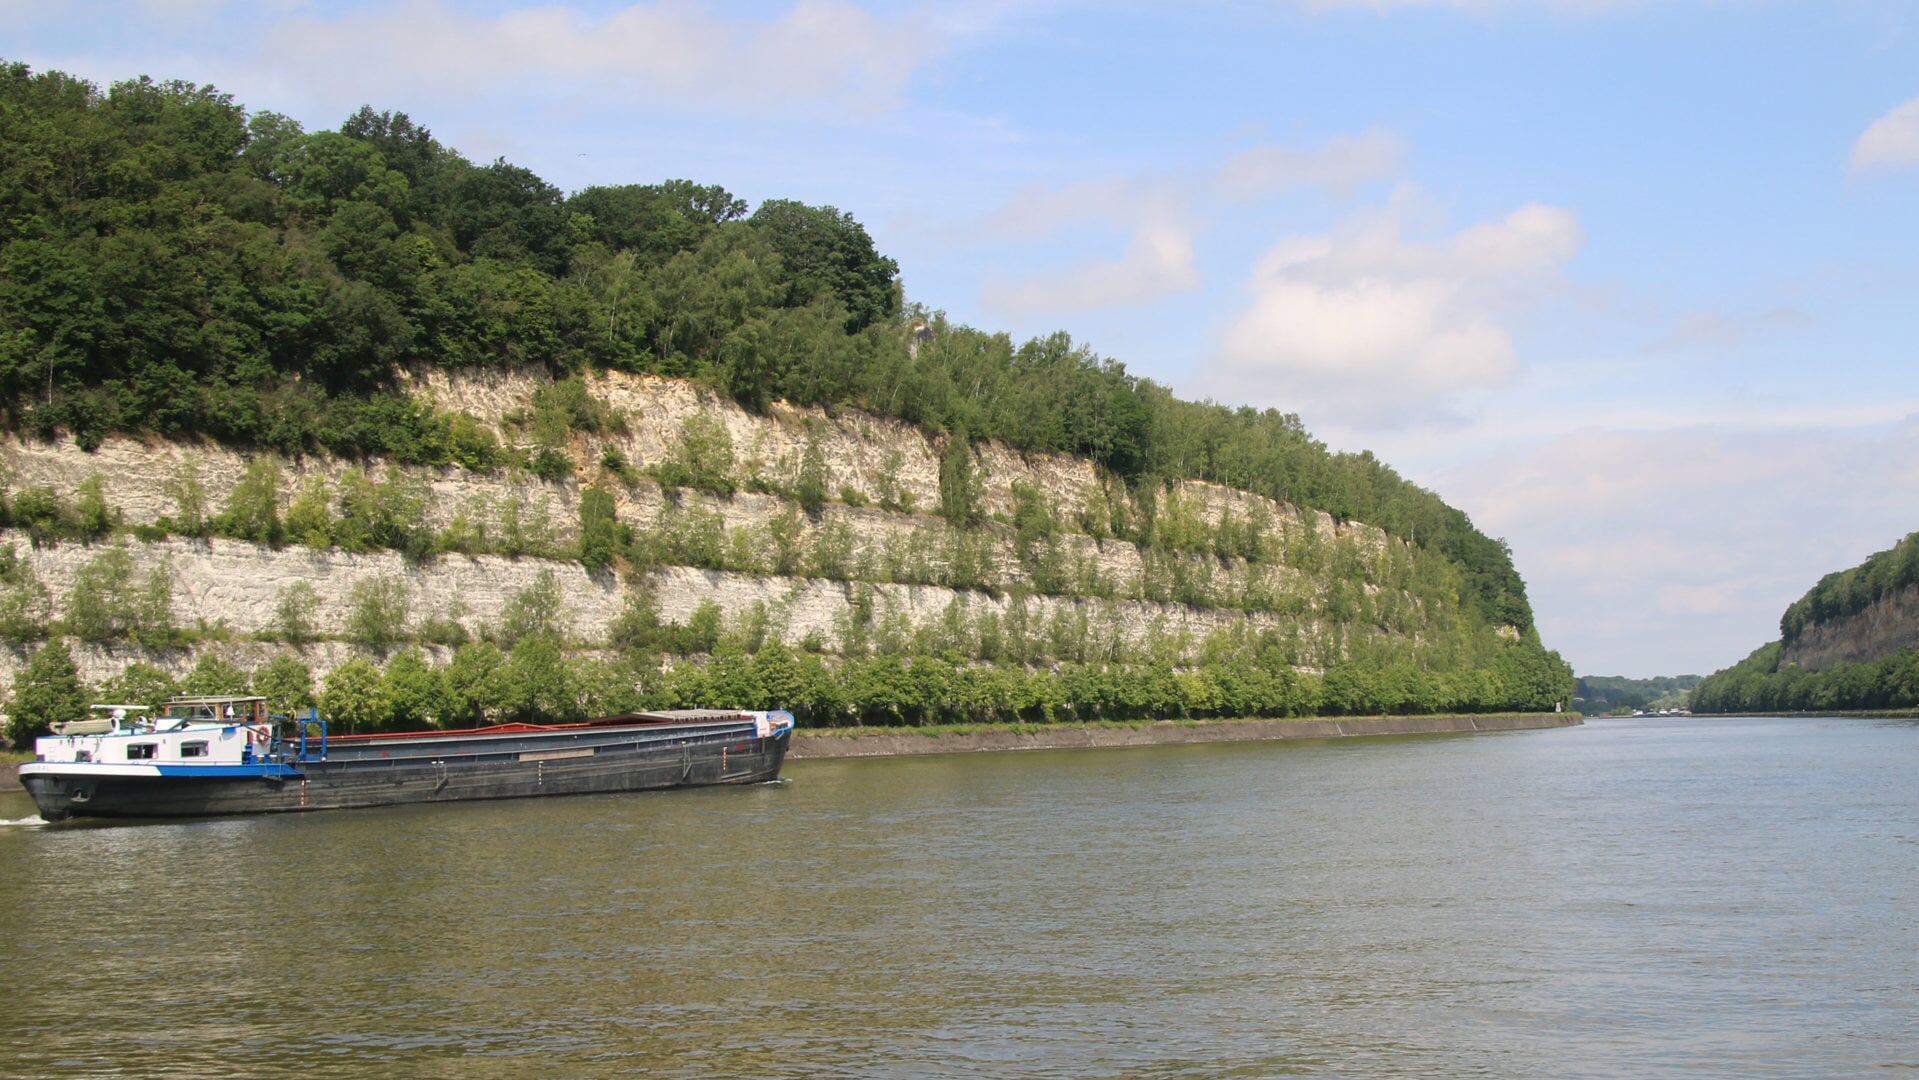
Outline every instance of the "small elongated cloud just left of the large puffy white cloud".
POLYGON ((1197 284, 1192 234, 1173 224, 1148 224, 1132 234, 1117 261, 1025 280, 992 278, 981 290, 981 305, 1006 315, 1073 313, 1153 303, 1197 284))

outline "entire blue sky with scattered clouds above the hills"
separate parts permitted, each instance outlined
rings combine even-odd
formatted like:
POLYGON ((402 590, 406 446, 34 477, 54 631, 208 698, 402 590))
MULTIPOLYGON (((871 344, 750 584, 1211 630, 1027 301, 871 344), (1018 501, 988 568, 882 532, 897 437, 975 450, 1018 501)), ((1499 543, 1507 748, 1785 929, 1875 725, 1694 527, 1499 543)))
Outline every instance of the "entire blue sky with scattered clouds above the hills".
POLYGON ((912 303, 1374 451, 1581 675, 1919 529, 1909 0, 0 0, 0 58, 835 205, 912 303))

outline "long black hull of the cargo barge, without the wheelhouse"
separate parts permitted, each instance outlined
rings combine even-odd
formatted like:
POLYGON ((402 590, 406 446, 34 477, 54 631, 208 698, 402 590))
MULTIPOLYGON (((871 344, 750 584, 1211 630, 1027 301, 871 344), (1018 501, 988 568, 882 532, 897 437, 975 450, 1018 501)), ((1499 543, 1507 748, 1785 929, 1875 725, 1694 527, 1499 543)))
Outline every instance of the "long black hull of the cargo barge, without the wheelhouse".
POLYGON ((209 817, 351 810, 407 802, 599 794, 779 779, 791 733, 750 729, 580 748, 299 762, 288 777, 23 775, 46 821, 67 817, 209 817))

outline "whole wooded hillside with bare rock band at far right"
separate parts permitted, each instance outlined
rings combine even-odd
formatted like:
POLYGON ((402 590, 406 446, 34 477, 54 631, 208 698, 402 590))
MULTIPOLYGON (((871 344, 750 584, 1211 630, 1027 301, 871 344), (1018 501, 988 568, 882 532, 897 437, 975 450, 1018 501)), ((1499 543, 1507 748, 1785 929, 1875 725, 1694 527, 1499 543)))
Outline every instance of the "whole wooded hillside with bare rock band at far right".
POLYGON ((1693 712, 1919 706, 1919 533, 1827 574, 1762 645, 1693 691, 1693 712))

